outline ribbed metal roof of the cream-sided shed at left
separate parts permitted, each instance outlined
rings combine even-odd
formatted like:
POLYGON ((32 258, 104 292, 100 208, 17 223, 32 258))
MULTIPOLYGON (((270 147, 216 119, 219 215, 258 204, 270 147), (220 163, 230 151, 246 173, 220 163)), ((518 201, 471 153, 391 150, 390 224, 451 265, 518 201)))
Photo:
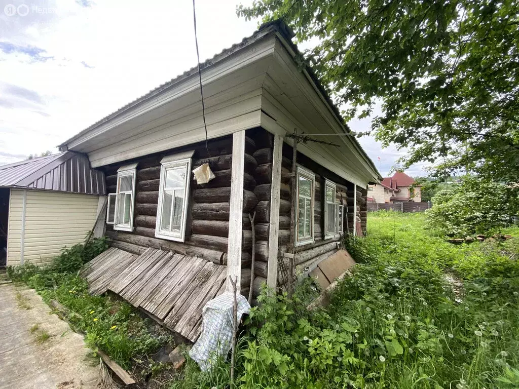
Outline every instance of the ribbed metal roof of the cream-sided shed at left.
POLYGON ((0 166, 0 187, 105 195, 104 173, 83 154, 61 152, 0 166))

